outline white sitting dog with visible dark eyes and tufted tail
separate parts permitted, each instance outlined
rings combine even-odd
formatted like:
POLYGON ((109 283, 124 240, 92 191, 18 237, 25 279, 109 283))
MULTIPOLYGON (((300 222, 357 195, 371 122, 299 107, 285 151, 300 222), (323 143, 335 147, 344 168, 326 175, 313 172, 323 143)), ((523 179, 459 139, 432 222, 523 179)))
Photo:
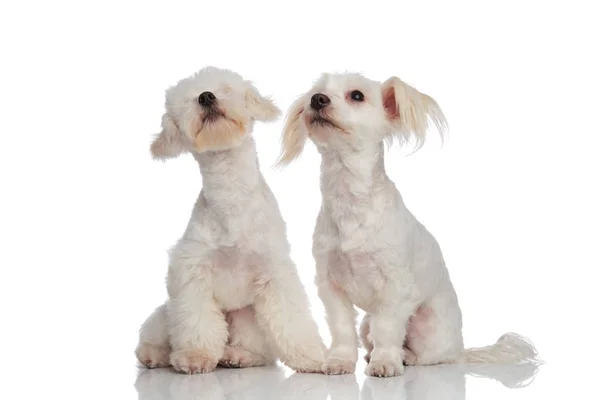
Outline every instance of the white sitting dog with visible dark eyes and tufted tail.
POLYGON ((384 168, 384 142, 420 146, 438 104, 392 77, 324 74, 290 108, 280 164, 310 138, 322 156, 323 202, 313 236, 319 296, 332 343, 323 372, 351 373, 358 357, 354 305, 372 376, 402 374, 404 365, 519 362, 533 346, 515 334, 465 350, 462 316, 438 243, 406 209, 384 168), (411 135, 412 134, 412 135, 411 135))

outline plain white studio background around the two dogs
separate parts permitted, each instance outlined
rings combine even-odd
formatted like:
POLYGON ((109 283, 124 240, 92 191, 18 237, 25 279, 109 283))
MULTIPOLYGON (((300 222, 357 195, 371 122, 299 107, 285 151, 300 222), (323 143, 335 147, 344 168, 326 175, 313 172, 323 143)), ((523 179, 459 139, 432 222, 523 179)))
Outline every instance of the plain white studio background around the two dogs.
MULTIPOLYGON (((239 72, 284 110, 326 71, 397 75, 434 97, 449 121, 448 140, 442 146, 431 135, 410 156, 392 149, 388 174, 442 246, 466 345, 516 331, 546 361, 524 389, 468 377, 466 398, 593 396, 587 386, 597 380, 600 355, 595 3, 3 2, 0 396, 137 398, 137 330, 166 296, 166 251, 201 187, 190 156, 153 162, 149 144, 164 90, 205 65, 239 72)), ((310 255, 318 154, 308 146, 298 162, 273 169, 281 127, 282 120, 257 125, 259 158, 327 340, 310 255)), ((369 381, 363 368, 357 384, 353 377, 301 384, 337 382, 346 398, 358 398, 356 388, 369 381)), ((261 372, 236 373, 229 378, 271 384, 261 372)), ((220 376, 221 386, 163 376, 153 381, 159 389, 145 386, 139 398, 211 398, 210 390, 235 388, 220 376)), ((402 379, 372 384, 390 398, 429 398, 411 395, 402 379)), ((318 398, 289 385, 281 397, 318 398)))

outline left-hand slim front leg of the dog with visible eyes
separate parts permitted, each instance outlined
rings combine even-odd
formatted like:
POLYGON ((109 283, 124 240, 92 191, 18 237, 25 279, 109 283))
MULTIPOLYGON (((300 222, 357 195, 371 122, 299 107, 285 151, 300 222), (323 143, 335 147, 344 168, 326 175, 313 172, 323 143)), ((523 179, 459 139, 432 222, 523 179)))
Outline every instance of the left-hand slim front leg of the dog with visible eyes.
POLYGON ((327 375, 351 374, 358 360, 356 310, 348 295, 331 283, 319 264, 317 262, 319 297, 331 332, 331 346, 322 370, 327 375))

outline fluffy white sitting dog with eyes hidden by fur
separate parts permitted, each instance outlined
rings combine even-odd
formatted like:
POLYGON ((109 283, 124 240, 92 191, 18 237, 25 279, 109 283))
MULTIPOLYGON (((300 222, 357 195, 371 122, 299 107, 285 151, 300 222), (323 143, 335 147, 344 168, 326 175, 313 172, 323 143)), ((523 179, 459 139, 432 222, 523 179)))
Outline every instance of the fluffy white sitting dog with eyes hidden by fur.
POLYGON ((259 169, 255 120, 279 109, 228 70, 207 67, 166 91, 156 159, 190 152, 203 188, 170 252, 169 298, 140 329, 138 359, 185 373, 273 363, 321 372, 325 346, 290 259, 285 223, 259 169))

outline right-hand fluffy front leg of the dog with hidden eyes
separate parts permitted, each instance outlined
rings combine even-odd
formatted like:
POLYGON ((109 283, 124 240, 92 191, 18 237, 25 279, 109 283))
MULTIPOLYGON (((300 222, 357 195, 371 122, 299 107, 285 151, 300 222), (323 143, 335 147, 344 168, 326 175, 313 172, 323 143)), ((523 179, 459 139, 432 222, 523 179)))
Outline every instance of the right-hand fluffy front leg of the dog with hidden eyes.
POLYGON ((270 331, 285 365, 297 372, 320 373, 325 346, 295 266, 285 260, 271 270, 273 276, 256 293, 256 318, 270 331))

